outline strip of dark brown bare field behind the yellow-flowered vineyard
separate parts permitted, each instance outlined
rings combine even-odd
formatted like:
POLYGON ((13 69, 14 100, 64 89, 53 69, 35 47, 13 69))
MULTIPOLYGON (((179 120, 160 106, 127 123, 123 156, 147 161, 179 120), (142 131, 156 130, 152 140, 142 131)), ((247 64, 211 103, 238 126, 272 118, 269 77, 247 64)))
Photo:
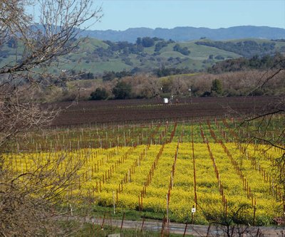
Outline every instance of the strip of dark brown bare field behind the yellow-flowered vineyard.
POLYGON ((259 113, 265 107, 268 110, 269 104, 276 100, 278 98, 274 97, 193 98, 192 103, 186 99, 175 101, 171 105, 163 104, 162 99, 59 102, 56 107, 64 110, 53 125, 235 116, 259 113))

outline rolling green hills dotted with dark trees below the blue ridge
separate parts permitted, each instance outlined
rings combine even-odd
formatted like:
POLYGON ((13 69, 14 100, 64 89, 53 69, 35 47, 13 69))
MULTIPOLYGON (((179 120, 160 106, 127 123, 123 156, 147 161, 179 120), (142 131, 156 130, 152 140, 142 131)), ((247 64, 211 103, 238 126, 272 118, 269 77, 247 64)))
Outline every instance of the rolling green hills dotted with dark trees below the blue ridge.
MULTIPOLYGON (((142 38, 143 40, 144 38, 142 38)), ((160 38, 147 38, 145 45, 139 43, 100 41, 87 38, 76 51, 60 59, 61 67, 53 71, 86 71, 102 75, 105 71, 135 70, 150 72, 157 68, 180 68, 197 72, 229 58, 274 54, 285 52, 285 42, 262 39, 234 41, 189 41, 176 43, 160 38), (159 47, 160 46, 160 47, 159 47), (175 47, 178 48, 175 50, 175 47), (244 55, 246 54, 246 55, 244 55)), ((24 48, 7 43, 0 48, 0 67, 6 63, 21 61, 24 48), (17 55, 17 57, 16 57, 17 55)))

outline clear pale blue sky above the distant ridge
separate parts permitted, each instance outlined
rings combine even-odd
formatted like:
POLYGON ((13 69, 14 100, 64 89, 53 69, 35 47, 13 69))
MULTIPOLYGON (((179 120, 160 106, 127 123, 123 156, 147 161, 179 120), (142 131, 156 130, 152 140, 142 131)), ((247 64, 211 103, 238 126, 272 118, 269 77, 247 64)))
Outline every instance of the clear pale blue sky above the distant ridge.
POLYGON ((285 28, 285 0, 95 0, 103 18, 91 29, 273 26, 285 28))

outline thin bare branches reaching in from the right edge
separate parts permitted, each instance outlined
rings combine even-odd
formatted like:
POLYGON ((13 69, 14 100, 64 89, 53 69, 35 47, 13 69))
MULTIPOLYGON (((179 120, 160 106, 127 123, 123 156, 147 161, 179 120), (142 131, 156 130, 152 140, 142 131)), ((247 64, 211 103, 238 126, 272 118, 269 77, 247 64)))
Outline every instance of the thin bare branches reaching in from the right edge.
MULTIPOLYGON (((276 64, 259 77, 257 83, 251 88, 249 95, 254 95, 257 90, 269 88, 270 84, 277 82, 280 90, 285 90, 285 58, 280 57, 276 64), (281 83, 280 83, 281 82, 281 83)), ((277 151, 275 162, 271 167, 272 176, 271 186, 280 190, 281 206, 280 215, 285 222, 285 96, 281 94, 274 100, 269 100, 262 110, 252 112, 242 116, 242 122, 239 129, 245 131, 246 136, 240 137, 242 143, 264 144, 266 147, 260 149, 261 155, 266 153, 267 149, 277 151)), ((280 196, 279 196, 280 198, 280 196)))

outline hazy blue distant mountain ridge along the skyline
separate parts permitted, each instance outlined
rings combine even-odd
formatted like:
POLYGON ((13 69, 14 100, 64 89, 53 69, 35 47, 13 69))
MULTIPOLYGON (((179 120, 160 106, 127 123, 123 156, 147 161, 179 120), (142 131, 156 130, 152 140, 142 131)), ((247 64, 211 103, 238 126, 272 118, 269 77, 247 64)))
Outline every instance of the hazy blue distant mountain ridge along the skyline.
POLYGON ((241 38, 285 38, 285 28, 269 26, 234 26, 229 28, 204 28, 182 26, 175 28, 128 28, 125 31, 84 31, 82 36, 98 38, 105 41, 135 42, 138 37, 157 37, 174 41, 193 41, 199 38, 209 38, 215 41, 241 39, 241 38))

